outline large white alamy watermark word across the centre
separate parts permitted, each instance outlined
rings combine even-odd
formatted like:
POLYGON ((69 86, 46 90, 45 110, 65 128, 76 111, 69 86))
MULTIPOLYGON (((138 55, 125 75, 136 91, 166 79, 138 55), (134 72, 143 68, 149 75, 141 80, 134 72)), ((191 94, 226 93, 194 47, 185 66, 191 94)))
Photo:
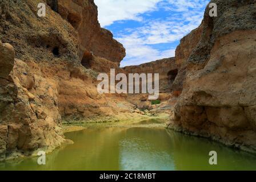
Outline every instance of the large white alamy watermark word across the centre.
POLYGON ((115 69, 110 69, 110 78, 107 73, 100 73, 97 78, 101 81, 98 84, 98 93, 138 94, 149 93, 149 100, 157 100, 159 97, 159 73, 125 73, 115 75, 115 69), (116 81, 119 81, 116 84, 116 81), (154 88, 153 88, 154 83, 154 88))

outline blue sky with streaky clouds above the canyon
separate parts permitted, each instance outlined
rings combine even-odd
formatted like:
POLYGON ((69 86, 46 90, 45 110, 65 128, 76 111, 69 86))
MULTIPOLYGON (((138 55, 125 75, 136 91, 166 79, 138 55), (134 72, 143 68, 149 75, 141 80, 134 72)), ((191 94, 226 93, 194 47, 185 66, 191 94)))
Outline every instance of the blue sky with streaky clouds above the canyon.
POLYGON ((126 48, 121 67, 175 56, 183 36, 197 28, 210 0, 94 0, 101 27, 126 48))

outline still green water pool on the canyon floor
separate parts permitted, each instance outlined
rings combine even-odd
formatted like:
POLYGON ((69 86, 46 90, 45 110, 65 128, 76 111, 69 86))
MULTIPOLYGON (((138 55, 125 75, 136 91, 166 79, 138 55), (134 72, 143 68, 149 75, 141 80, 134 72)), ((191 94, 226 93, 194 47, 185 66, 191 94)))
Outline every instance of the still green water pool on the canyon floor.
POLYGON ((256 169, 256 157, 207 139, 162 128, 95 127, 66 134, 74 144, 37 158, 0 163, 0 170, 239 170, 256 169), (210 166, 209 152, 218 165, 210 166))

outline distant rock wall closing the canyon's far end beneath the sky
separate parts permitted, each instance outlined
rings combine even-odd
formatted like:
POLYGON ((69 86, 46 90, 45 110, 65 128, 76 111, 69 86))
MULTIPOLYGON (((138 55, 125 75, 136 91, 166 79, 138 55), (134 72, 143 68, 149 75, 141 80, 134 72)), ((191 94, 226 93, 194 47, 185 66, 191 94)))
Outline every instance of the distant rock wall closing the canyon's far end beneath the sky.
POLYGON ((127 74, 129 73, 159 73, 159 92, 171 92, 171 86, 178 73, 175 58, 162 59, 145 63, 138 66, 130 66, 123 68, 127 74))

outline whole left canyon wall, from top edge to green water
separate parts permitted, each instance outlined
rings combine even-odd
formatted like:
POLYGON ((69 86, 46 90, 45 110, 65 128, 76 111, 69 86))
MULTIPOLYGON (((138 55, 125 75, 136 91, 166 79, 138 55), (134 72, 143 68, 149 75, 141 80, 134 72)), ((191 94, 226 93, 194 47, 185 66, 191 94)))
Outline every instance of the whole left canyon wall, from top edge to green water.
POLYGON ((0 16, 0 160, 68 142, 62 122, 133 111, 97 92, 98 72, 118 69, 125 49, 93 1, 0 0, 0 16))

